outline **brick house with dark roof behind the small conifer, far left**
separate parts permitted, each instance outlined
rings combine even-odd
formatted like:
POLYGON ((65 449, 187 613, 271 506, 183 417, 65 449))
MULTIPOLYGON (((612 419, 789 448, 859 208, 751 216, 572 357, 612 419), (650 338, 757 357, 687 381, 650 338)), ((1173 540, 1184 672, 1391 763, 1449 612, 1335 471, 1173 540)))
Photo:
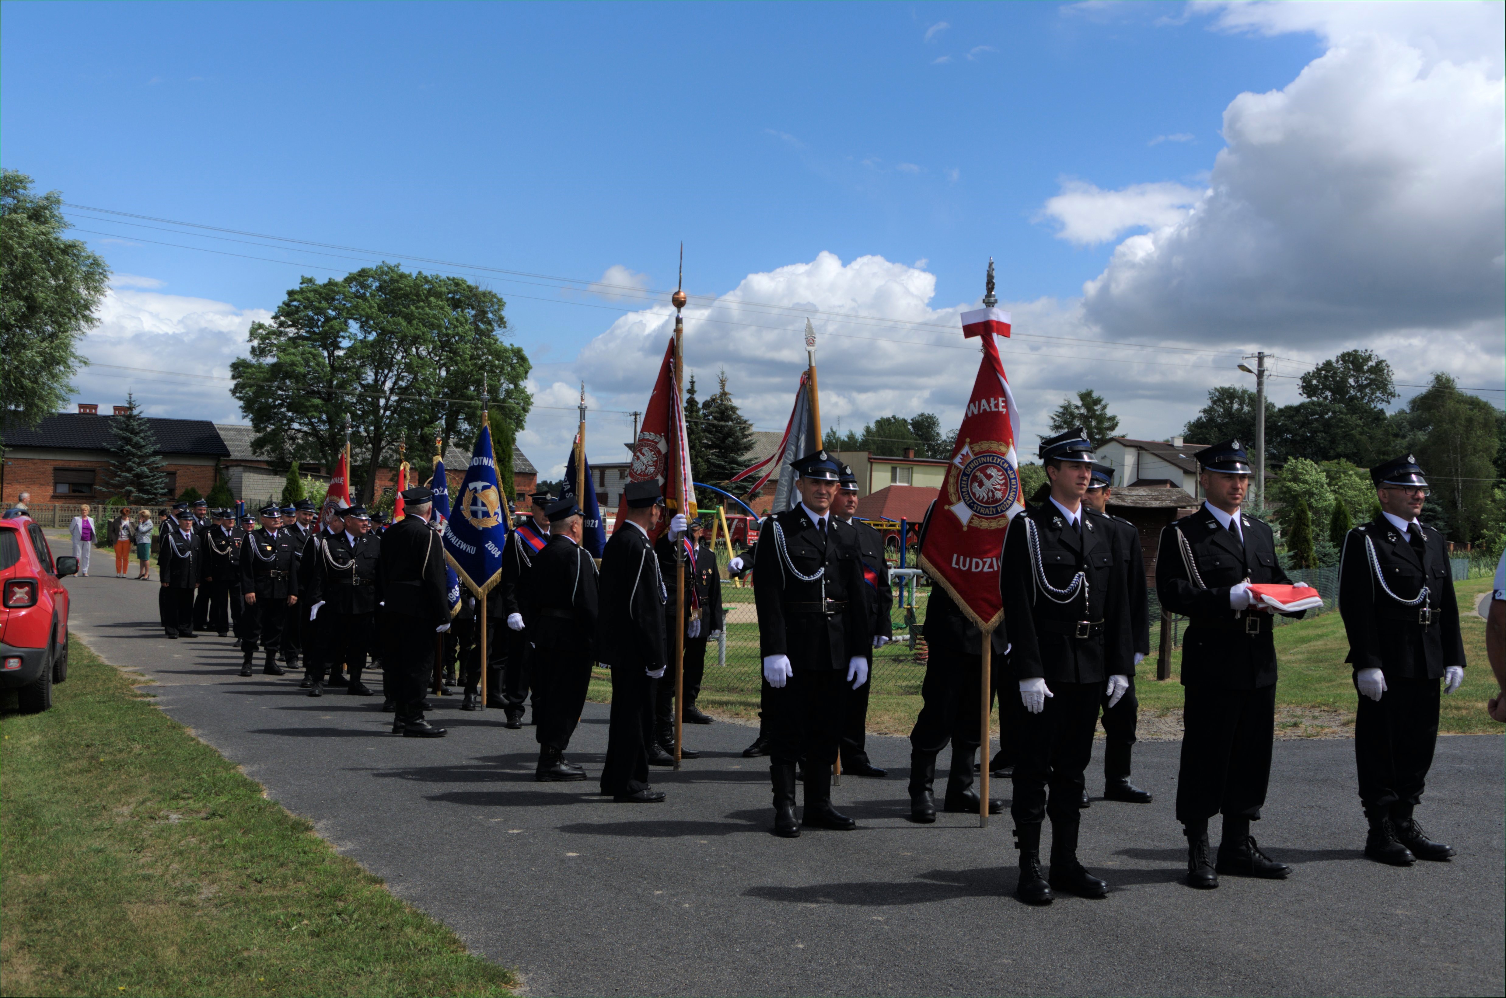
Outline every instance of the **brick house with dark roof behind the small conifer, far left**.
MULTIPOLYGON (((99 415, 96 405, 80 403, 78 412, 57 412, 35 427, 6 426, 5 465, 0 470, 0 503, 11 504, 21 492, 33 503, 99 503, 110 495, 110 420, 125 412, 99 415)), ((146 417, 157 435, 157 453, 166 461, 172 495, 193 486, 200 495, 214 488, 220 459, 229 455, 214 423, 146 417)))

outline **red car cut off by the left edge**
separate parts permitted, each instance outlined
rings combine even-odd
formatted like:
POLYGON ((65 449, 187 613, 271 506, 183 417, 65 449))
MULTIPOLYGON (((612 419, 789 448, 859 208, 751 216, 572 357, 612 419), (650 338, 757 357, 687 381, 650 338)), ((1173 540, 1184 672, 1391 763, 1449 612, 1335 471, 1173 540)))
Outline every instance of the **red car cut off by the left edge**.
POLYGON ((62 578, 78 558, 53 558, 29 518, 0 519, 0 689, 15 689, 21 710, 53 706, 53 683, 68 679, 68 590, 62 578))

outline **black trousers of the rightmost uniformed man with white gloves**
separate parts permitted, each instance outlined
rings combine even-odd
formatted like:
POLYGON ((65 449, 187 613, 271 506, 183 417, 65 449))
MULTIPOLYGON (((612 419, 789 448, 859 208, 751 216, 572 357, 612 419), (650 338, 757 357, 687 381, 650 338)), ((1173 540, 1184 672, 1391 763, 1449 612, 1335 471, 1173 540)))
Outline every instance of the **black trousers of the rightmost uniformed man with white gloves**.
POLYGON ((1360 697, 1354 718, 1354 762, 1360 801, 1410 817, 1422 801, 1438 742, 1438 680, 1386 677, 1379 701, 1360 697))

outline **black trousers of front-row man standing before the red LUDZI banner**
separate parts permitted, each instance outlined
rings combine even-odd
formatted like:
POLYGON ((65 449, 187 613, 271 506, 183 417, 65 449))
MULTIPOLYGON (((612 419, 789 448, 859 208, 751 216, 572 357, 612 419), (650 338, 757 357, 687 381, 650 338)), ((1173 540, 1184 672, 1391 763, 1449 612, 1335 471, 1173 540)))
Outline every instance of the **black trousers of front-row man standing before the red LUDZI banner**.
MULTIPOLYGON (((1041 714, 1021 709, 1015 730, 1015 825, 1075 823, 1083 799, 1083 774, 1093 757, 1093 729, 1104 683, 1048 682, 1041 714), (1050 795, 1048 795, 1050 790, 1050 795)), ((1008 691, 1000 691, 1000 698, 1008 691)), ((1018 698, 1018 694, 1015 694, 1018 698)))

